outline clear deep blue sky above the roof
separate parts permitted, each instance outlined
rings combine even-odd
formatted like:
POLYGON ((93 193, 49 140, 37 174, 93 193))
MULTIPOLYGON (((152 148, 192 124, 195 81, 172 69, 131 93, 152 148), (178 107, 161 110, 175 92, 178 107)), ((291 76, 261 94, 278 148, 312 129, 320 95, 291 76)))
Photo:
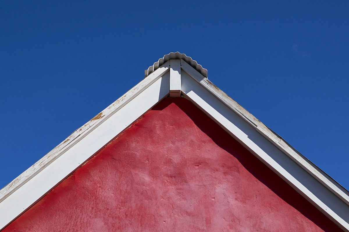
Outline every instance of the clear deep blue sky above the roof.
POLYGON ((349 189, 348 1, 0 1, 0 188, 170 52, 349 189))

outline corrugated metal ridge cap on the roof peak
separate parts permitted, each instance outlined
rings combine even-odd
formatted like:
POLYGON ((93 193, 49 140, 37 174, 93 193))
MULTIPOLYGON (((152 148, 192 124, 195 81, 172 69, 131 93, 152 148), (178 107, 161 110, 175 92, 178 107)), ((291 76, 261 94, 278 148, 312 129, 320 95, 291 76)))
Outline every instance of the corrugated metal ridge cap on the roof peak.
POLYGON ((185 54, 182 54, 178 51, 176 53, 169 53, 167 55, 164 55, 163 58, 160 58, 157 62, 155 62, 147 70, 144 70, 145 77, 148 77, 148 75, 150 73, 154 72, 158 67, 160 67, 161 65, 163 65, 166 61, 169 61, 170 59, 183 59, 190 66, 192 66, 196 71, 198 71, 200 74, 202 74, 204 77, 207 78, 207 69, 204 69, 200 64, 198 64, 198 62, 194 61, 192 59, 192 57, 187 56, 185 54))

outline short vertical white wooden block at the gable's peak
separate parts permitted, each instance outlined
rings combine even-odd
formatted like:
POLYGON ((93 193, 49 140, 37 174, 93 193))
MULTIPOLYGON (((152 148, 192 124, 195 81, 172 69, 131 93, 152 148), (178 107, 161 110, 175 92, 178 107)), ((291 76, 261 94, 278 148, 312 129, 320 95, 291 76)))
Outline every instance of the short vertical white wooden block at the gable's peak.
POLYGON ((170 59, 170 97, 180 97, 180 59, 170 59))

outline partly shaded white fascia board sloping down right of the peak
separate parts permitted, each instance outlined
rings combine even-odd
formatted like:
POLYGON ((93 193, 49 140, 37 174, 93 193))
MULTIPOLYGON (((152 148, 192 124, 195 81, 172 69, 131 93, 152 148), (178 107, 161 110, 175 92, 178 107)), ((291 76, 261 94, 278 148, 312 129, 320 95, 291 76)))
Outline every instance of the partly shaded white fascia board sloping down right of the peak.
MULTIPOLYGON (((181 65, 181 91, 186 98, 190 99, 333 222, 343 230, 349 231, 349 205, 343 200, 348 197, 347 195, 342 193, 344 196, 339 197, 335 194, 334 192, 338 189, 331 190, 329 186, 311 175, 306 167, 290 158, 292 154, 285 153, 280 146, 276 146, 275 142, 263 136, 261 134, 263 132, 256 129, 257 122, 253 122, 251 118, 247 117, 248 115, 223 102, 221 98, 225 96, 217 96, 221 90, 211 85, 207 78, 196 72, 190 65, 186 66, 184 63, 181 65)), ((238 106, 237 104, 236 107, 238 106)))

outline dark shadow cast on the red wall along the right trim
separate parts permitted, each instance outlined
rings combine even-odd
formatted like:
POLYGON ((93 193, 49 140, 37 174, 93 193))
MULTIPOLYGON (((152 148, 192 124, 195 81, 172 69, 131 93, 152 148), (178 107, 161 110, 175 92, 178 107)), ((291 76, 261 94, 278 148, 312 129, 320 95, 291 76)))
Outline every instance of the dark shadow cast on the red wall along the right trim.
POLYGON ((251 152, 247 151, 247 149, 189 100, 185 98, 165 98, 154 106, 152 110, 163 110, 172 103, 175 103, 183 110, 196 126, 218 146, 233 155, 255 178, 272 190, 282 200, 294 207, 322 230, 328 232, 342 231, 328 217, 322 214, 251 152))

